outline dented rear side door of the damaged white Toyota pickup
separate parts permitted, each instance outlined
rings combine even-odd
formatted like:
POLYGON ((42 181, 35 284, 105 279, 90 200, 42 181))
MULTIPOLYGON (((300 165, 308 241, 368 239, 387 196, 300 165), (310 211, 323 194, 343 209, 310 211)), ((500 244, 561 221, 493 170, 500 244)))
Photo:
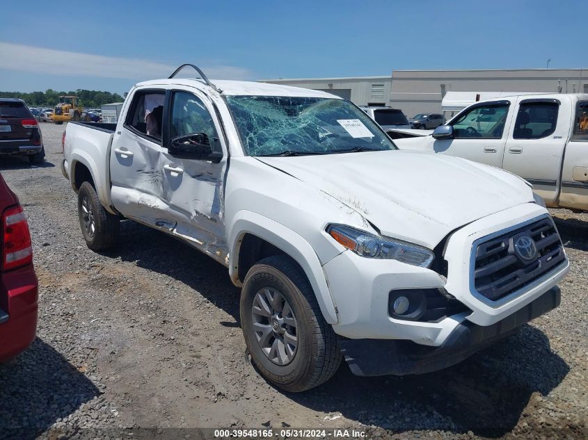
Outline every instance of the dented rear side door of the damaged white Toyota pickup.
POLYGON ((161 126, 150 124, 152 127, 148 129, 147 123, 153 120, 150 113, 155 113, 158 107, 163 109, 165 97, 164 88, 144 88, 134 92, 122 129, 113 137, 111 195, 113 206, 126 217, 173 229, 175 222, 163 199, 161 126))

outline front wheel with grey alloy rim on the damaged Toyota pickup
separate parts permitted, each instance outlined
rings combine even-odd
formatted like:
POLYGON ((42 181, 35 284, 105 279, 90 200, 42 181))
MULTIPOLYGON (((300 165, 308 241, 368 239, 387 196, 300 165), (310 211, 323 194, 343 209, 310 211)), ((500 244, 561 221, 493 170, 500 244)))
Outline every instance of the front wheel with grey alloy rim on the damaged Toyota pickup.
POLYGON ((339 368, 342 355, 337 336, 324 320, 304 272, 289 256, 270 256, 249 270, 241 291, 240 309, 251 360, 271 384, 285 391, 306 391, 331 379, 339 368), (276 293, 281 298, 276 297, 276 293), (265 306, 269 309, 262 311, 264 306, 257 295, 266 300, 265 306), (277 303, 281 303, 282 309, 276 314, 274 312, 280 310, 274 307, 277 303), (254 307, 260 313, 255 313, 254 307), (283 323, 272 327, 278 320, 283 323), (282 336, 274 331, 276 328, 284 332, 282 336), (269 333, 271 336, 264 338, 269 333), (294 340, 292 334, 295 334, 294 340), (264 341, 267 341, 265 348, 264 341), (274 345, 276 341, 278 345, 274 345), (296 342, 294 350, 289 344, 291 341, 296 342))

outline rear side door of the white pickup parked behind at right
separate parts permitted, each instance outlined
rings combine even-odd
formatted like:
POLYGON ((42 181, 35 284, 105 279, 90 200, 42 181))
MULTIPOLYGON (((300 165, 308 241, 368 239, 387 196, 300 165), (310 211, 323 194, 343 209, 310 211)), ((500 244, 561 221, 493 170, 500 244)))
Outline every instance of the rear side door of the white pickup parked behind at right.
POLYGON ((546 204, 555 205, 569 136, 569 106, 559 99, 519 99, 502 168, 529 181, 546 204))

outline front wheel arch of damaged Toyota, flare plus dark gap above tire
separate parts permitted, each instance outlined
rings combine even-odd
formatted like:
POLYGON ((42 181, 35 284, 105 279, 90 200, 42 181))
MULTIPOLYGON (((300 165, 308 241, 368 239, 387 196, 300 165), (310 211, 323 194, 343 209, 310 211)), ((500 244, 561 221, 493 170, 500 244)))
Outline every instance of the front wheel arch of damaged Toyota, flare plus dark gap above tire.
POLYGON ((228 234, 231 243, 229 273, 232 282, 241 286, 244 274, 266 256, 285 254, 304 272, 325 320, 337 323, 337 309, 319 257, 303 237, 288 227, 251 211, 240 211, 228 234))

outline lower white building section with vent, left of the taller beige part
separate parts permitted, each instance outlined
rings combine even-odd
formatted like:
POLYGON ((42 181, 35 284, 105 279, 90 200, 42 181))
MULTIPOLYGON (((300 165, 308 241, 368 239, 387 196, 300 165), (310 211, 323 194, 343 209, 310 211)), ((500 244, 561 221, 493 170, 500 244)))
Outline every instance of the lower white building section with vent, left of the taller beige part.
POLYGON ((292 85, 333 93, 349 99, 358 106, 390 105, 390 84, 392 76, 359 76, 357 78, 317 79, 262 79, 262 83, 292 85))

